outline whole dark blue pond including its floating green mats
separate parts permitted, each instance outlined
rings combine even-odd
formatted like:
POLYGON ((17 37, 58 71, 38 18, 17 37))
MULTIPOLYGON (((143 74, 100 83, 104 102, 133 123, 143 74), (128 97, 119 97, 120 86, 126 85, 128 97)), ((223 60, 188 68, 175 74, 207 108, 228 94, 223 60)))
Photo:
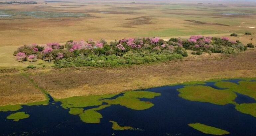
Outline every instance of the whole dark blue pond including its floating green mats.
POLYGON ((200 123, 232 136, 255 136, 255 88, 253 80, 232 79, 63 100, 49 95, 48 105, 1 111, 0 132, 46 136, 209 135, 188 125, 200 123), (23 117, 11 119, 10 115, 17 112, 23 117))

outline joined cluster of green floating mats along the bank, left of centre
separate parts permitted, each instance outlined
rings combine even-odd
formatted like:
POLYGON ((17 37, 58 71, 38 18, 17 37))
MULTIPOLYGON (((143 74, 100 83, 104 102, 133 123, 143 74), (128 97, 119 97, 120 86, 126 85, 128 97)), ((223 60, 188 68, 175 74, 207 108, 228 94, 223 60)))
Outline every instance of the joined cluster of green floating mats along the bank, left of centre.
POLYGON ((113 104, 119 104, 134 110, 144 110, 152 107, 154 104, 151 102, 141 101, 139 98, 152 99, 160 96, 160 93, 149 91, 129 91, 115 99, 115 95, 100 95, 100 96, 77 96, 66 99, 56 99, 62 102, 61 106, 65 109, 69 108, 69 113, 72 115, 79 115, 80 119, 85 123, 100 123, 102 115, 97 112, 98 110, 109 107, 113 104), (106 102, 107 104, 103 104, 106 102), (98 106, 84 110, 84 107, 98 106))

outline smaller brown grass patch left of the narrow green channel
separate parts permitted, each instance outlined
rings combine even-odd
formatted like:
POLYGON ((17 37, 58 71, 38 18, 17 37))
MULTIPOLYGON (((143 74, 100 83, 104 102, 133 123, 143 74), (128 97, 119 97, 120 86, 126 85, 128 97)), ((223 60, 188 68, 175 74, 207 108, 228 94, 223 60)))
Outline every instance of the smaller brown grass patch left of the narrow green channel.
POLYGON ((29 80, 20 74, 0 75, 0 106, 46 100, 29 80))

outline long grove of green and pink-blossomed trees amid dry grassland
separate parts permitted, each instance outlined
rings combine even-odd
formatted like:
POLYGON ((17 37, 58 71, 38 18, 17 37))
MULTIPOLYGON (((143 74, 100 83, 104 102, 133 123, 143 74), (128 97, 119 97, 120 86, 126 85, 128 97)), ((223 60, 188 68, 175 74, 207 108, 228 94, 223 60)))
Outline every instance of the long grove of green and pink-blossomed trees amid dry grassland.
MULTIPOLYGON (((24 45, 14 52, 20 62, 34 62, 37 59, 54 60, 55 67, 115 67, 182 59, 192 54, 236 53, 247 49, 240 41, 230 41, 227 37, 205 37, 193 35, 189 39, 171 38, 165 41, 154 38, 128 38, 115 40, 109 44, 105 40, 69 40, 65 45, 58 42, 47 45, 24 45)), ((33 66, 30 66, 33 67, 33 66)))

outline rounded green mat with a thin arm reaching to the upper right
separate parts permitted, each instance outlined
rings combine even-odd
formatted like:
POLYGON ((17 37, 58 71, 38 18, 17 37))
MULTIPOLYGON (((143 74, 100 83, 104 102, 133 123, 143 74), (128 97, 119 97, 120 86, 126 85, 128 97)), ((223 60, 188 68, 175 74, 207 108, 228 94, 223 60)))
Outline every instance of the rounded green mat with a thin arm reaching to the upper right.
POLYGON ((79 117, 85 123, 100 123, 102 115, 99 112, 97 112, 97 110, 101 110, 108 106, 110 105, 101 105, 96 108, 84 110, 83 113, 79 114, 79 117))

